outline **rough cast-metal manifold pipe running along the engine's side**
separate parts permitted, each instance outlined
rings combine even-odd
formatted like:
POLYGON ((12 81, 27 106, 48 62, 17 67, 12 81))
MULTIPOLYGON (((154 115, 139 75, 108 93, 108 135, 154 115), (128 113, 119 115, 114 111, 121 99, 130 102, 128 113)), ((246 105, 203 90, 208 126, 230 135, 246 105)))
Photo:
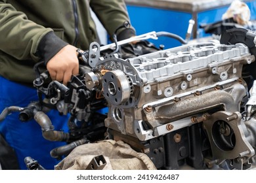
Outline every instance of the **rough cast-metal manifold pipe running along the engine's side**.
POLYGON ((178 116, 186 116, 186 114, 195 114, 202 110, 215 108, 223 105, 224 110, 235 112, 240 110, 240 102, 246 94, 246 89, 241 84, 235 84, 232 88, 224 90, 216 90, 204 93, 196 97, 191 97, 164 105, 158 108, 156 116, 158 118, 171 119, 178 116))

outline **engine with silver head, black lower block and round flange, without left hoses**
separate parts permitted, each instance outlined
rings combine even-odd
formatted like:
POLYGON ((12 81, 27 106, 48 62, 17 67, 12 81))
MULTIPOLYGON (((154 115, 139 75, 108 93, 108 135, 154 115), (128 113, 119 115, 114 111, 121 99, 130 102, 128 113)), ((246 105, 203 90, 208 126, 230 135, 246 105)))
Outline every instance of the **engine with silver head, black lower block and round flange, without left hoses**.
POLYGON ((110 137, 148 154, 156 167, 204 169, 232 161, 230 169, 245 169, 249 161, 233 161, 255 154, 247 130, 255 129, 255 119, 246 123, 240 113, 248 90, 242 68, 253 61, 244 44, 203 42, 99 59, 85 85, 108 101, 110 137))

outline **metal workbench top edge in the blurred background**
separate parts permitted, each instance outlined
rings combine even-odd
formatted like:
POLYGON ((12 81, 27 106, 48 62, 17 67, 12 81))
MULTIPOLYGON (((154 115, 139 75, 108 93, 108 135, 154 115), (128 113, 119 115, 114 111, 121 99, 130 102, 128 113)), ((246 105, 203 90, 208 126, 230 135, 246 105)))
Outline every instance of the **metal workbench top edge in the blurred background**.
POLYGON ((228 6, 232 1, 233 0, 125 0, 127 5, 180 10, 185 12, 200 12, 216 7, 228 6))

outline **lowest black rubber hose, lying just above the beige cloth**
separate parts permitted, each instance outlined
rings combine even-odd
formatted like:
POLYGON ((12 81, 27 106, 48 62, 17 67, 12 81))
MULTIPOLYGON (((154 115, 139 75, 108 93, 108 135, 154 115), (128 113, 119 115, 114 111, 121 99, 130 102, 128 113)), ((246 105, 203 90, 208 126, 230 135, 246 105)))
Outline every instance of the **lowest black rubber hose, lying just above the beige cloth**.
POLYGON ((82 144, 85 144, 87 142, 89 142, 87 138, 83 138, 78 141, 71 142, 70 144, 54 148, 50 152, 51 157, 58 159, 61 156, 67 156, 68 154, 70 154, 70 152, 72 152, 72 150, 74 150, 75 147, 81 146, 82 144))

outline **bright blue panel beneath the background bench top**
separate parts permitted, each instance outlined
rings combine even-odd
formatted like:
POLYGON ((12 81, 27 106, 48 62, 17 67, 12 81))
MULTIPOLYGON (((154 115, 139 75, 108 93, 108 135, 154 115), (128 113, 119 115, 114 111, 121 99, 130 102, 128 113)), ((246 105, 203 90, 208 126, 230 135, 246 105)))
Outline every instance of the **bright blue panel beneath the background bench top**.
MULTIPOLYGON (((251 10, 251 20, 256 20, 256 1, 247 2, 247 5, 251 10)), ((198 20, 198 26, 196 27, 198 30, 197 37, 207 36, 203 30, 199 28, 200 24, 209 24, 221 20, 222 15, 226 12, 228 7, 229 5, 196 12, 198 20)), ((131 18, 131 23, 137 30, 137 35, 151 31, 167 31, 185 38, 188 29, 188 21, 193 18, 192 12, 139 7, 135 5, 127 5, 127 9, 131 18)), ((168 37, 160 37, 158 40, 150 39, 149 41, 156 44, 156 46, 164 44, 165 48, 181 46, 179 41, 168 37)))

